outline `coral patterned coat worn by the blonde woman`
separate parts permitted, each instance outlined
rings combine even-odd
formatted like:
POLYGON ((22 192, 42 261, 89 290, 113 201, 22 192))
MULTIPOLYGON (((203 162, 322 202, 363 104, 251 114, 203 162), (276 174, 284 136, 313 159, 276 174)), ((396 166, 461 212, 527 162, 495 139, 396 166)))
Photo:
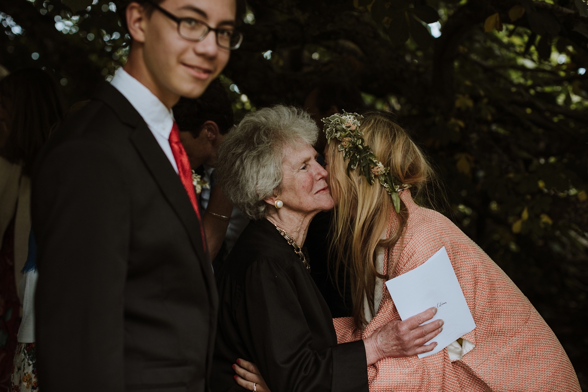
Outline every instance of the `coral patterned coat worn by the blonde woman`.
MULTIPOLYGON (((386 358, 368 367, 370 392, 383 391, 580 391, 562 345, 515 283, 449 219, 419 207, 408 190, 400 197, 409 210, 405 237, 387 249, 384 274, 390 278, 426 262, 445 246, 476 321, 463 336, 475 348, 451 361, 447 349, 419 359, 386 358), (402 249, 400 249, 402 246, 402 249)), ((390 219, 387 236, 397 227, 390 219)), ((376 316, 363 331, 350 317, 333 319, 338 343, 370 336, 400 316, 386 285, 376 316)))

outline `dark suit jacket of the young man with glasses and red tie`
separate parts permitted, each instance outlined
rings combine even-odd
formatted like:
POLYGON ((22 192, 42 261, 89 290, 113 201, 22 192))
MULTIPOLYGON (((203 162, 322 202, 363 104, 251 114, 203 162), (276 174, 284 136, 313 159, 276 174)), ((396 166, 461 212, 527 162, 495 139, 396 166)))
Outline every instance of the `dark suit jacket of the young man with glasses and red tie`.
POLYGON ((218 294, 198 219, 112 86, 49 140, 32 219, 45 392, 208 390, 218 294))

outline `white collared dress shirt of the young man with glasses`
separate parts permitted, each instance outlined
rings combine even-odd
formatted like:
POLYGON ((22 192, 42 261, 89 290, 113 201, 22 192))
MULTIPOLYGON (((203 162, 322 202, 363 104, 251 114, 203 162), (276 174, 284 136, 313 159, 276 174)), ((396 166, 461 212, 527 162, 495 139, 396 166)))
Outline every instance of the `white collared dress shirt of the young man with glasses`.
POLYGON ((173 170, 178 173, 178 165, 175 158, 173 158, 172 148, 169 145, 169 134, 172 132, 173 126, 172 110, 168 110, 159 98, 122 68, 112 78, 111 85, 120 91, 131 102, 133 108, 139 112, 147 123, 149 130, 155 136, 155 140, 157 140, 159 146, 168 157, 173 170))

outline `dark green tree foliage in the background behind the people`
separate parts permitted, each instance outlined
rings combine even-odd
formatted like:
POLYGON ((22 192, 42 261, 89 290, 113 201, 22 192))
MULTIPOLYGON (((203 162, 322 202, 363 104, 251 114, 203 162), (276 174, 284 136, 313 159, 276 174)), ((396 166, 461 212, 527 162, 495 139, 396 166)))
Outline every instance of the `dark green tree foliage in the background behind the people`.
MULTIPOLYGON (((0 0, 0 63, 54 70, 74 103, 129 40, 121 2, 63 1, 0 0)), ((529 297, 587 388, 586 2, 250 0, 243 21, 223 75, 238 117, 302 105, 325 78, 396 113, 442 176, 445 213, 529 297)))

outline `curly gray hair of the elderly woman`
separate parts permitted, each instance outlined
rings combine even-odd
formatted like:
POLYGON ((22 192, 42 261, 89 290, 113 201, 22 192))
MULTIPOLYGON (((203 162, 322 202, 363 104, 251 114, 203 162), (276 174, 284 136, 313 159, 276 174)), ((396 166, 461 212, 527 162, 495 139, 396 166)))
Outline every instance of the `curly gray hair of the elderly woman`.
POLYGON ((283 147, 313 145, 317 137, 316 123, 305 110, 276 105, 249 113, 219 148, 218 184, 245 216, 261 219, 271 207, 263 200, 281 192, 283 147))

